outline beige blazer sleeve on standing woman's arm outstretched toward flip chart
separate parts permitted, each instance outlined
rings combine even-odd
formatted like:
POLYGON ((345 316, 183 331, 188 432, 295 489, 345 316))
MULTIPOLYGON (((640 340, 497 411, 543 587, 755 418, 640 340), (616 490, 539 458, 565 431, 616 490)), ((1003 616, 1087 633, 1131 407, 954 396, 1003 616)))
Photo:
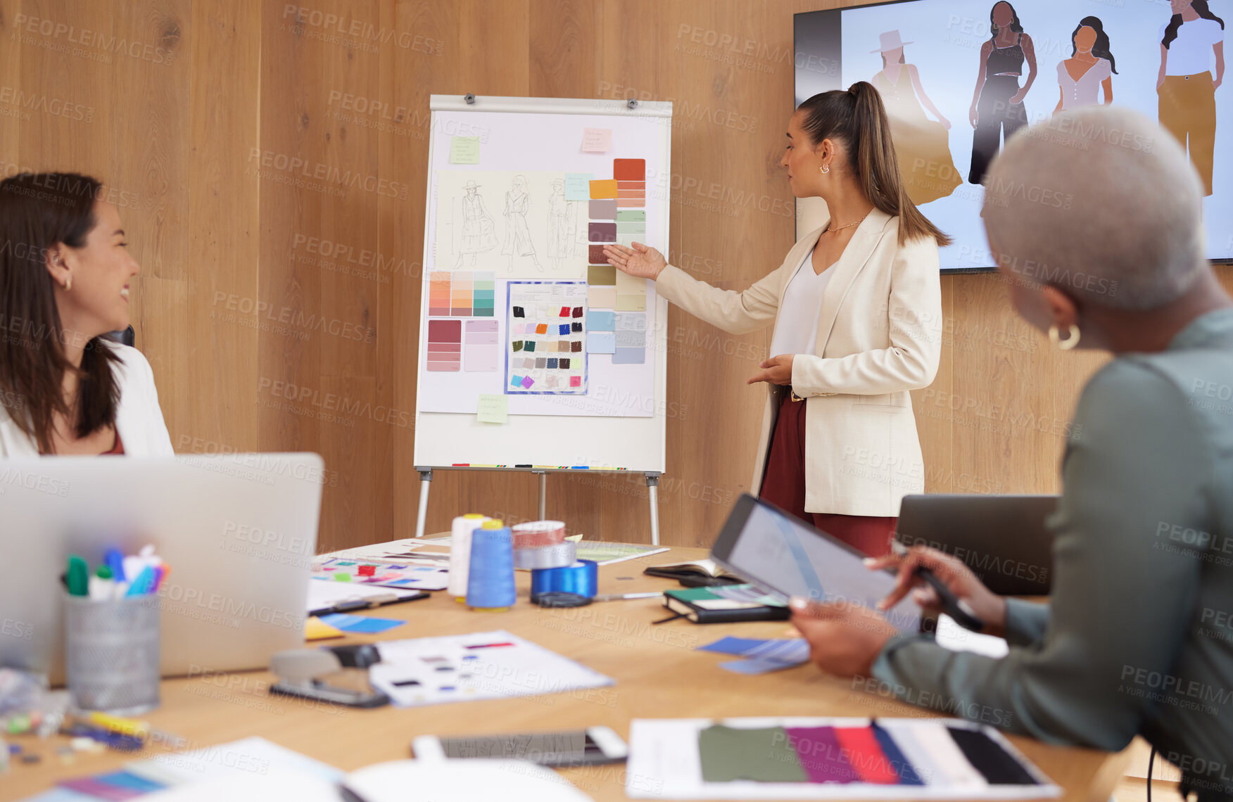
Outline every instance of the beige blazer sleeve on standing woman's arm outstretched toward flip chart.
POLYGON ((784 265, 760 278, 745 292, 711 287, 679 267, 668 265, 656 280, 655 291, 689 314, 729 334, 748 334, 774 323, 779 312, 784 265))

